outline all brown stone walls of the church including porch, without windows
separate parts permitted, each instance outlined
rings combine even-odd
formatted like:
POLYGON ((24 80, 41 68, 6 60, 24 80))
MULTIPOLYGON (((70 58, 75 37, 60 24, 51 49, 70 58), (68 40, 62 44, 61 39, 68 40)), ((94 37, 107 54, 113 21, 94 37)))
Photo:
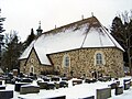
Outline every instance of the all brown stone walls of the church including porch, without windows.
POLYGON ((25 62, 21 61, 21 72, 29 74, 30 67, 34 67, 35 74, 41 72, 57 72, 63 76, 74 77, 92 77, 92 72, 101 74, 103 76, 122 77, 123 74, 123 52, 118 48, 80 48, 73 50, 63 53, 54 53, 48 55, 54 66, 42 65, 36 56, 34 48, 30 54, 30 57, 25 62), (95 54, 102 53, 103 64, 95 64, 95 54), (68 55, 70 58, 70 65, 64 66, 64 57, 68 55), (24 69, 24 63, 25 69, 24 69))

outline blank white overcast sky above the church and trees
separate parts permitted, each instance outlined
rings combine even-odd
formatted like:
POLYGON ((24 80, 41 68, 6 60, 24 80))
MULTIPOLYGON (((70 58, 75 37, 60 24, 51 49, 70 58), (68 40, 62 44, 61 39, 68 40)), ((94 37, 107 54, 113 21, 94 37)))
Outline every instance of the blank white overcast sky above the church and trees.
POLYGON ((48 31, 81 20, 82 14, 89 18, 91 12, 108 28, 117 14, 132 10, 132 0, 0 0, 0 8, 7 18, 6 33, 15 30, 24 41, 38 21, 48 31))

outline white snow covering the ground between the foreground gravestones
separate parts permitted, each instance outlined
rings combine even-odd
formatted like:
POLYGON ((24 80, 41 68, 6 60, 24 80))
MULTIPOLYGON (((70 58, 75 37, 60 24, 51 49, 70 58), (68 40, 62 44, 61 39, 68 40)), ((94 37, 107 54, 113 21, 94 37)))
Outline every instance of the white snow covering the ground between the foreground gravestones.
MULTIPOLYGON (((131 77, 120 78, 119 80, 121 85, 123 85, 123 79, 129 79, 129 78, 131 77)), ((19 99, 19 97, 24 99, 46 99, 46 98, 63 96, 63 95, 66 96, 66 99, 78 99, 78 98, 81 99, 89 96, 95 96, 95 99, 96 99, 96 89, 106 88, 111 82, 113 81, 107 81, 107 82, 97 81, 95 84, 82 82, 81 85, 72 86, 72 80, 69 80, 68 88, 59 88, 54 90, 41 89, 38 94, 28 94, 28 95, 20 95, 19 92, 14 91, 13 99, 19 99)), ((7 85, 7 89, 14 90, 14 86, 7 85)), ((119 96, 114 96, 114 89, 112 89, 111 94, 112 94, 112 97, 109 99, 132 99, 132 87, 129 90, 123 90, 123 94, 119 96)))

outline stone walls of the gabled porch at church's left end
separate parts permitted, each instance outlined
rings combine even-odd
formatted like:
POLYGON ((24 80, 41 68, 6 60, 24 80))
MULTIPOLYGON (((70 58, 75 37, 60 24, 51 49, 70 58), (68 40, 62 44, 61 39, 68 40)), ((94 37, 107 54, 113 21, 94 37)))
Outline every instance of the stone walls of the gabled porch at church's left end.
POLYGON ((21 67, 21 72, 24 74, 30 74, 31 73, 31 67, 34 68, 34 74, 40 75, 41 72, 53 72, 53 66, 47 66, 47 65, 42 65, 40 63, 40 59, 35 53, 35 50, 33 48, 30 57, 28 58, 28 61, 20 61, 20 67, 21 67), (24 64, 25 63, 25 64, 24 64), (25 67, 25 69, 24 69, 25 67))

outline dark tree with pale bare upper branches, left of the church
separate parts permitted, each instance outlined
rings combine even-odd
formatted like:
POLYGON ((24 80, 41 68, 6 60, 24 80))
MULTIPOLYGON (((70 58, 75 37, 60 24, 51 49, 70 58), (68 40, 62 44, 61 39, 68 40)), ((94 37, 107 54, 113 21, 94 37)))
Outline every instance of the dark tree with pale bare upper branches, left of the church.
POLYGON ((2 66, 4 70, 12 70, 19 67, 19 57, 22 53, 22 43, 19 41, 16 32, 6 35, 6 48, 2 55, 2 66))

